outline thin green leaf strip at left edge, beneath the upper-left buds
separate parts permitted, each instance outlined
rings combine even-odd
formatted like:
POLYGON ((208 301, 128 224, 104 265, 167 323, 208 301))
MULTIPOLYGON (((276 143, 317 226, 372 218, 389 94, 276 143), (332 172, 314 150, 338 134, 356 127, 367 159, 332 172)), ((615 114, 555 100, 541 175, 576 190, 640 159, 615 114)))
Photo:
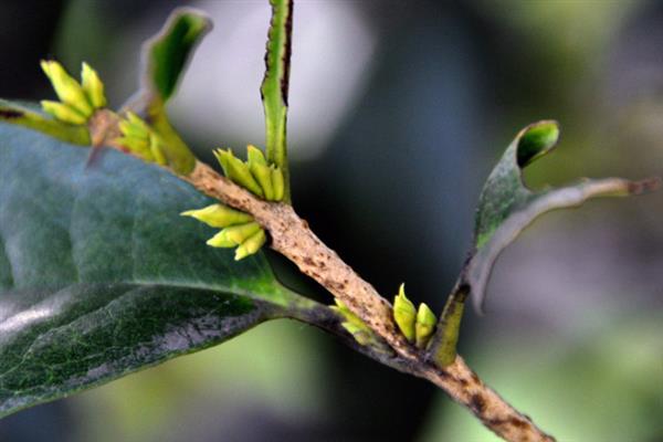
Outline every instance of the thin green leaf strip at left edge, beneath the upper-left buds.
POLYGON ((39 130, 75 145, 90 146, 90 131, 85 126, 69 125, 32 109, 29 105, 0 99, 0 122, 39 130))

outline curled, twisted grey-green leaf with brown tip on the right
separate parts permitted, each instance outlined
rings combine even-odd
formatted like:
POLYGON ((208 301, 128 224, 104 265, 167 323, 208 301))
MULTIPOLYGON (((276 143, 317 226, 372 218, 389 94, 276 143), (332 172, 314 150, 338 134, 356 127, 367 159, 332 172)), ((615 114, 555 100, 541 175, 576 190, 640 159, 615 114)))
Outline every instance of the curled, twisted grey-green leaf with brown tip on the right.
POLYGON ((478 311, 497 256, 538 215, 554 209, 577 207, 592 198, 638 194, 659 186, 657 179, 634 182, 606 178, 533 191, 523 181, 523 168, 548 154, 558 137, 556 122, 543 120, 527 126, 518 133, 486 180, 476 212, 475 246, 462 275, 478 311))

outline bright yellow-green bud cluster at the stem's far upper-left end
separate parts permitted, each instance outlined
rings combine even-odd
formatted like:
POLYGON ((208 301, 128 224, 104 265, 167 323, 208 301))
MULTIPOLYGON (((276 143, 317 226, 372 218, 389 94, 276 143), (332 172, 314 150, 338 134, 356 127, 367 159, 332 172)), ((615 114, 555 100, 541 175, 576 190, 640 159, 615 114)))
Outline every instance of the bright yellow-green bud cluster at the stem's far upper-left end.
POLYGON ((41 102, 46 114, 72 125, 84 125, 96 109, 106 106, 104 84, 97 73, 83 63, 81 83, 66 73, 55 61, 42 61, 41 67, 51 81, 60 102, 41 102))

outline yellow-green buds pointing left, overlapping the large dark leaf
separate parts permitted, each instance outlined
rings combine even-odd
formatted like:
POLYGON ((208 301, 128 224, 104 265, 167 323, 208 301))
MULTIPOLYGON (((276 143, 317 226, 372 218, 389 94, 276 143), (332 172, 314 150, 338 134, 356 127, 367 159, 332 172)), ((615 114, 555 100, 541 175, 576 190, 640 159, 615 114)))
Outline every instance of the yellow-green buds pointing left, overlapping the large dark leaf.
POLYGON ((235 261, 254 254, 265 243, 265 231, 253 218, 244 212, 231 209, 223 204, 212 204, 199 210, 189 210, 181 213, 185 217, 196 218, 206 224, 222 229, 207 242, 212 248, 234 248, 235 261))

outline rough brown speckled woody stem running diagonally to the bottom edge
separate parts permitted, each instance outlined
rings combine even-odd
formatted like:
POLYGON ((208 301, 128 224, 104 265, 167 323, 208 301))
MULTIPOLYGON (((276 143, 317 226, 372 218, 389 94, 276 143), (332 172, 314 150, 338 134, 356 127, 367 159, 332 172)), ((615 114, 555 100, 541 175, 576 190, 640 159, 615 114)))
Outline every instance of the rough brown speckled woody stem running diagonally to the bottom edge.
MULTIPOLYGON (((460 356, 453 364, 439 368, 427 359, 423 351, 410 345, 396 329, 391 305, 327 248, 291 206, 263 201, 202 162, 198 162, 193 172, 183 179, 208 196, 251 213, 270 232, 272 249, 343 301, 393 348, 397 356, 388 361, 389 366, 440 387, 486 428, 507 441, 554 441, 529 417, 518 412, 483 383, 460 356)), ((352 347, 385 362, 383 356, 376 357, 370 348, 364 348, 366 346, 352 347)))

